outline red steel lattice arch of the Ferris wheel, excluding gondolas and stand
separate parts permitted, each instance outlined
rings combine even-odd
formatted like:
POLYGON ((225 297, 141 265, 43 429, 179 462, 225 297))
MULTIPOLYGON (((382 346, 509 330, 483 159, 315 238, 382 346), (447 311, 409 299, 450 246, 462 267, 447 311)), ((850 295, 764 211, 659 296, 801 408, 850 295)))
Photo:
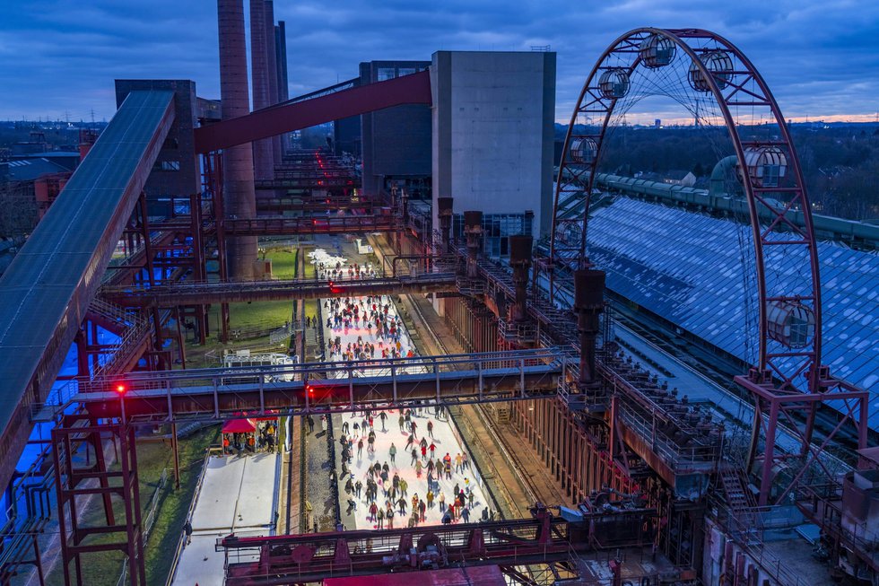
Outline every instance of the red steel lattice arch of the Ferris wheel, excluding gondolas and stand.
POLYGON ((694 66, 698 67, 702 79, 709 86, 710 92, 718 102, 720 113, 726 122, 729 136, 735 149, 735 156, 741 169, 747 168, 745 149, 748 147, 776 147, 780 148, 787 155, 789 169, 788 185, 758 187, 754 185, 754 181, 749 173, 740 173, 744 193, 751 212, 757 293, 760 309, 759 354, 758 363, 754 366, 761 372, 770 371, 770 376, 776 380, 780 390, 805 390, 797 389, 795 382, 797 377, 805 376, 810 380, 811 388, 808 390, 817 391, 817 381, 814 376, 811 376, 811 371, 817 368, 821 359, 821 284, 818 272, 818 251, 812 225, 812 209, 805 192, 796 150, 790 138, 785 118, 782 116, 779 105, 763 81, 762 76, 757 72, 751 61, 744 57, 744 54, 735 45, 713 32, 700 29, 635 29, 614 40, 611 46, 598 58, 596 65, 592 68, 592 72, 587 78, 587 82, 583 85, 583 90, 580 92, 577 108, 574 109, 571 115, 568 134, 565 136, 553 207, 553 232, 551 232, 553 238, 550 243, 550 260, 553 268, 556 271, 559 269, 562 271, 566 269, 572 270, 588 262, 586 246, 587 220, 593 183, 595 181, 595 171, 598 163, 601 161, 608 124, 611 121, 614 107, 618 101, 617 99, 606 97, 601 92, 598 87, 598 78, 609 69, 619 68, 617 65, 606 65, 610 57, 622 57, 622 59, 628 57, 630 64, 627 68, 624 67, 624 69, 626 69, 627 74, 631 75, 631 72, 636 67, 642 66, 639 51, 641 41, 648 39, 650 35, 654 34, 674 42, 675 48, 683 51, 684 55, 690 57, 694 66), (692 47, 687 42, 691 39, 710 39, 716 46, 712 48, 692 47), (726 51, 731 57, 735 57, 734 70, 732 72, 725 72, 728 74, 728 79, 722 80, 719 84, 715 76, 716 74, 712 74, 700 59, 701 54, 718 49, 726 51), (735 119, 730 112, 731 106, 767 110, 767 114, 778 123, 779 139, 772 141, 743 140, 736 131, 735 119), (602 125, 597 134, 576 134, 575 125, 580 114, 603 118, 602 125), (570 144, 575 138, 592 139, 595 141, 597 149, 596 156, 592 162, 584 164, 571 160, 570 144), (556 229, 565 221, 558 217, 559 198, 564 194, 576 191, 582 191, 584 198, 583 212, 579 218, 582 223, 579 245, 570 246, 570 244, 562 244, 560 246, 556 229), (785 206, 779 207, 772 200, 786 201, 787 203, 785 206), (804 219, 802 226, 797 225, 792 219, 791 214, 794 211, 802 212, 804 219), (761 215, 765 216, 767 213, 771 215, 772 219, 768 225, 762 225, 761 215), (781 228, 787 234, 783 239, 779 239, 778 232, 776 232, 781 228), (811 293, 803 295, 799 293, 770 292, 767 290, 766 266, 768 258, 765 249, 779 245, 802 245, 806 249, 809 265, 806 278, 809 280, 811 293), (805 303, 810 310, 814 311, 814 336, 811 337, 809 344, 805 348, 785 350, 782 347, 771 347, 779 346, 772 343, 767 323, 767 304, 772 302, 805 303))

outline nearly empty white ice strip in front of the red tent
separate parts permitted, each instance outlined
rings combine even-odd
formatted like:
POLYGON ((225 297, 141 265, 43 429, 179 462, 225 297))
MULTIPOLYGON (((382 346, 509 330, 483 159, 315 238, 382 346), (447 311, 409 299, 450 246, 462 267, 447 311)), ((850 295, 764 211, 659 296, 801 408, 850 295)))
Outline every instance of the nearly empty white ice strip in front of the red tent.
POLYGON ((273 532, 277 463, 278 455, 266 452, 208 460, 192 514, 192 542, 180 553, 173 584, 222 583, 225 555, 214 551, 217 538, 273 532))

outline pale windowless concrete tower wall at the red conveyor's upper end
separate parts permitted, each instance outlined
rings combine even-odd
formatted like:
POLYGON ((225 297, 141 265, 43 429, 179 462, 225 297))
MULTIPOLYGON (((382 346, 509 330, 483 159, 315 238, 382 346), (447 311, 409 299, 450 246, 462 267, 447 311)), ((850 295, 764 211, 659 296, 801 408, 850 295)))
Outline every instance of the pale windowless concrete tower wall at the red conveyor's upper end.
POLYGON ((533 210, 535 236, 549 232, 555 53, 438 51, 431 86, 434 202, 454 197, 456 214, 533 210))

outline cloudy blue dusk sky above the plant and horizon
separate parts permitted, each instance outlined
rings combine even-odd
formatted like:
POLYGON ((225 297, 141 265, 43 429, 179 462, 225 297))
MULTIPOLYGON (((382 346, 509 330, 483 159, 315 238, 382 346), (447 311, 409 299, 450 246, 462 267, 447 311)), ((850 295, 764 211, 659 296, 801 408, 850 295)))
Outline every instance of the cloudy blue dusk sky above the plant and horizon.
MULTIPOLYGON (((245 0, 247 4, 247 0, 245 0)), ((788 118, 875 119, 877 0, 275 0, 290 95, 373 59, 438 49, 558 53, 557 112, 596 58, 641 26, 704 28, 741 48, 788 118)), ((245 13, 247 13, 245 9, 245 13)), ((219 96, 214 0, 0 0, 0 119, 110 118, 113 80, 187 78, 219 96)))

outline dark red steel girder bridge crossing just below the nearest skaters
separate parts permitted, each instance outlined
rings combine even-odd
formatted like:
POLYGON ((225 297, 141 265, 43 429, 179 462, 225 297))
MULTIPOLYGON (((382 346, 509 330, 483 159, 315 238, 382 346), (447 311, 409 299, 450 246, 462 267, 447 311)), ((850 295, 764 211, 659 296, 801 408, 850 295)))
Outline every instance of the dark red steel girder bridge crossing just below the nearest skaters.
POLYGON ((239 538, 218 541, 226 550, 227 586, 271 586, 319 582, 335 576, 413 573, 466 566, 553 564, 577 552, 639 547, 653 537, 652 509, 587 513, 583 522, 553 516, 543 505, 533 519, 461 523, 415 529, 354 529, 344 532, 239 538), (646 528, 646 529, 645 529, 646 528), (432 551, 431 551, 432 549, 432 551), (257 561, 250 561, 257 555, 257 561), (247 561, 238 561, 244 558, 247 561))

